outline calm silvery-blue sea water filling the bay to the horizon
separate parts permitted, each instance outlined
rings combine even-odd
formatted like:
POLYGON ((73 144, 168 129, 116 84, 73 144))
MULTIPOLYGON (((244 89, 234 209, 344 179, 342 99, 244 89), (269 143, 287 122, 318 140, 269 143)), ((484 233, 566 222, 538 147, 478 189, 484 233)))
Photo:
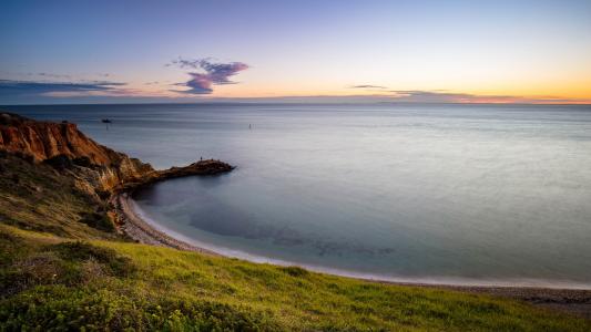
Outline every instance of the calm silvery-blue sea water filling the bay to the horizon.
POLYGON ((236 165, 135 197, 161 228, 226 255, 407 281, 591 284, 590 106, 3 108, 77 122, 159 168, 236 165))

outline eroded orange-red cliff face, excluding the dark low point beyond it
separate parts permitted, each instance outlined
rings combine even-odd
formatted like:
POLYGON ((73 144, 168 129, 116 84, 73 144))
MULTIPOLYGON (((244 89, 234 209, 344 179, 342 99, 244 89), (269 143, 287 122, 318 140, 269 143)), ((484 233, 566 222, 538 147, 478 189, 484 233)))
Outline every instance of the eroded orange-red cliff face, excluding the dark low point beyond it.
POLYGON ((98 144, 75 124, 39 122, 10 113, 0 113, 0 151, 27 156, 35 163, 73 160, 69 170, 79 178, 81 188, 92 193, 111 191, 154 174, 150 164, 98 144))

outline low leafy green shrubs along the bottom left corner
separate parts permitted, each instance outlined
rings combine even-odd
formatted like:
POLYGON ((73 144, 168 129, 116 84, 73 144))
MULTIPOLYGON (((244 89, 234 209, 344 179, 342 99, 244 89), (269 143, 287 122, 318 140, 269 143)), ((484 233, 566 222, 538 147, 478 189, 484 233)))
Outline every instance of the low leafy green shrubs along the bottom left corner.
POLYGON ((135 292, 38 287, 0 302, 0 330, 276 331, 248 308, 144 298, 135 292), (123 294, 125 293, 125 294, 123 294))

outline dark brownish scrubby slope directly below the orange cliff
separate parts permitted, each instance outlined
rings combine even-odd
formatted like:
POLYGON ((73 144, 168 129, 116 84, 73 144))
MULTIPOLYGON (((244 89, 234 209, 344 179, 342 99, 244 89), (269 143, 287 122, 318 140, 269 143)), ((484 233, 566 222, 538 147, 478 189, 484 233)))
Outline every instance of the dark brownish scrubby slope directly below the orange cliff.
POLYGON ((68 169, 0 152, 0 220, 67 238, 115 239, 106 205, 78 189, 68 169))

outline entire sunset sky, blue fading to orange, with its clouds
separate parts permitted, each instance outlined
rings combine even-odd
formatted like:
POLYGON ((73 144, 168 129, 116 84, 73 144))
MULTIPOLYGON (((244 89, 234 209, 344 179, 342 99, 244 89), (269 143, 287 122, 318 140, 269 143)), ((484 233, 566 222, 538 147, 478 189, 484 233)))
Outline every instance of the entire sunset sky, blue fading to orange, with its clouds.
POLYGON ((591 1, 0 2, 0 104, 591 103, 591 1))

